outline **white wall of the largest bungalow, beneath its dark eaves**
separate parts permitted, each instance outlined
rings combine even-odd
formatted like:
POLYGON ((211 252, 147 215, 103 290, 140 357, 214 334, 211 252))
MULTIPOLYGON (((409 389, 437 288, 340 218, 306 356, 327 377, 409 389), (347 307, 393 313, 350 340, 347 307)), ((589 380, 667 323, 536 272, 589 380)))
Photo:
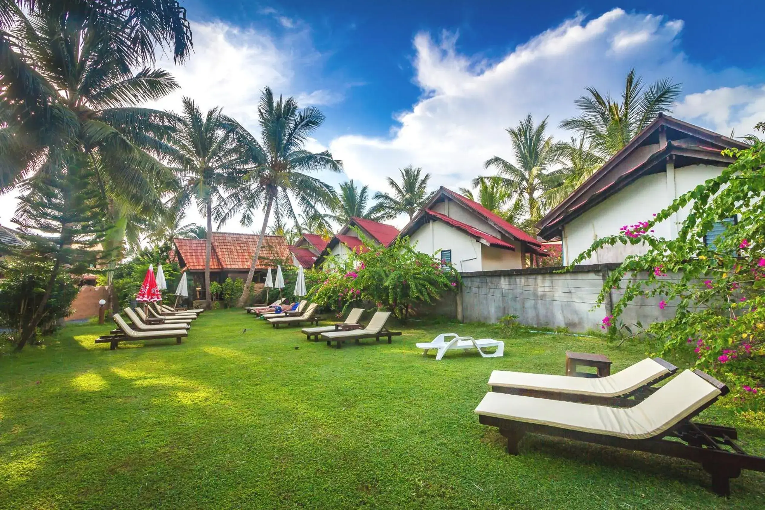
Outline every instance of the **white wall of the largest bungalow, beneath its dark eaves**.
MULTIPOLYGON (((721 174, 722 167, 711 165, 691 165, 676 168, 672 173, 646 175, 640 177, 630 186, 619 193, 608 197, 581 216, 572 219, 563 227, 563 263, 568 264, 581 252, 588 249, 593 241, 605 236, 619 233, 624 225, 633 225, 640 221, 648 221, 672 203, 675 197, 692 190, 705 180, 721 174), (674 177, 672 179, 672 177, 674 177), (674 183, 672 183, 674 180, 674 183)), ((675 222, 665 221, 656 225, 653 232, 656 236, 672 239, 676 236, 677 226, 688 216, 688 207, 680 210, 675 222)), ((582 261, 582 264, 604 264, 607 262, 623 261, 627 255, 642 255, 648 245, 614 245, 598 250, 593 257, 582 261)))

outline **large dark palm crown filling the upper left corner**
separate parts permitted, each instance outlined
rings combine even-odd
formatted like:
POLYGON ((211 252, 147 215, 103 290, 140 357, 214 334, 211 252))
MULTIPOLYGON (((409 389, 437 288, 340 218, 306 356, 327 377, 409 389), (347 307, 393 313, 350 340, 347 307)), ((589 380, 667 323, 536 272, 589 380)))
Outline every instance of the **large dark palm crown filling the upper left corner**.
POLYGON ((0 6, 0 191, 54 171, 67 152, 85 154, 113 225, 103 242, 113 267, 125 236, 162 213, 174 179, 156 159, 171 151, 168 115, 135 105, 177 89, 166 71, 142 66, 155 46, 187 55, 185 11, 173 0, 19 3, 26 11, 0 6))

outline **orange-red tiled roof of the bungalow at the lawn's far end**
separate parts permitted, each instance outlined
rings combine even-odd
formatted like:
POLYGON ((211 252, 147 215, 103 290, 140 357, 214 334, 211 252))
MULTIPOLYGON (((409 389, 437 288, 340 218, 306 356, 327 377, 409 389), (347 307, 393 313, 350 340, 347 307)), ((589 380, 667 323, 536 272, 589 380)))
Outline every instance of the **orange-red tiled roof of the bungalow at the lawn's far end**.
MULTIPOLYGON (((255 255, 258 236, 254 234, 236 234, 232 232, 213 232, 213 252, 210 257, 210 269, 249 269, 252 255, 255 255)), ((204 271, 204 239, 173 239, 178 252, 191 271, 204 271)), ((260 249, 258 269, 272 267, 270 261, 289 260, 290 252, 283 236, 265 236, 260 249)))

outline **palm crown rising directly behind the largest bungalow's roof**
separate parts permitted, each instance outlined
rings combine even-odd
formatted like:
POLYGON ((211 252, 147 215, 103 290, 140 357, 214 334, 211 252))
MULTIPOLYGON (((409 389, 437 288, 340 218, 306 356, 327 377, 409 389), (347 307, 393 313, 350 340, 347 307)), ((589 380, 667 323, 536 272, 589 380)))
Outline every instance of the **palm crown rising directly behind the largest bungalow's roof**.
POLYGON ((659 112, 671 112, 670 107, 679 98, 680 89, 680 84, 672 83, 669 78, 658 80, 645 89, 643 79, 636 77, 632 69, 624 80, 621 102, 608 93, 603 96, 594 87, 588 87, 586 90, 590 95, 575 101, 581 115, 565 119, 561 127, 584 135, 592 149, 607 158, 630 143, 659 112))

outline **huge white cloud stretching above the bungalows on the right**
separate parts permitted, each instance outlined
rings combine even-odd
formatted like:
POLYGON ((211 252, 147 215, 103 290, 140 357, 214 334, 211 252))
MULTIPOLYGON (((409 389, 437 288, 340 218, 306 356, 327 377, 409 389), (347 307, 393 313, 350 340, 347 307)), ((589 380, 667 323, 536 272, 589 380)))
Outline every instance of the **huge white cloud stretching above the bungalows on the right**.
POLYGON ((734 124, 740 134, 765 120, 763 89, 717 89, 696 97, 700 90, 735 84, 742 73, 715 74, 690 63, 679 49, 682 26, 621 9, 589 21, 577 15, 494 62, 461 54, 455 34, 443 32, 437 41, 417 34, 414 81, 422 98, 396 116, 389 136, 343 135, 330 142, 330 150, 349 177, 376 189, 385 189, 385 177, 407 164, 433 174, 434 186, 465 185, 486 173, 483 161, 491 156, 512 157, 508 126, 529 112, 537 122, 549 115, 552 134, 568 138, 557 125, 576 114, 574 100, 584 87, 616 95, 632 67, 648 83, 665 76, 683 83, 689 95, 677 111, 680 117, 700 117, 711 128, 734 124), (716 109, 705 109, 712 105, 716 109), (735 108, 741 111, 731 119, 735 108))

